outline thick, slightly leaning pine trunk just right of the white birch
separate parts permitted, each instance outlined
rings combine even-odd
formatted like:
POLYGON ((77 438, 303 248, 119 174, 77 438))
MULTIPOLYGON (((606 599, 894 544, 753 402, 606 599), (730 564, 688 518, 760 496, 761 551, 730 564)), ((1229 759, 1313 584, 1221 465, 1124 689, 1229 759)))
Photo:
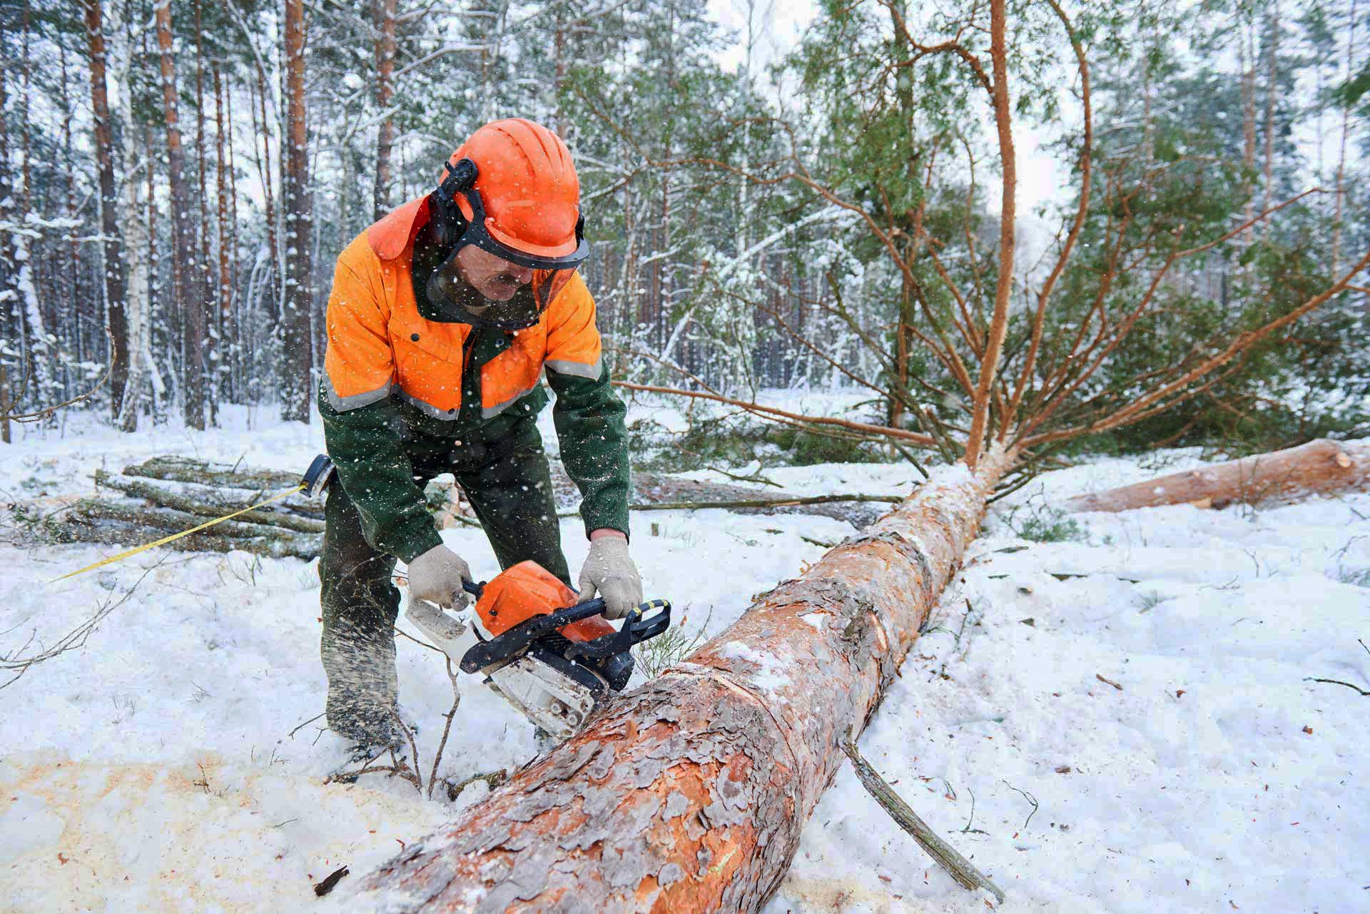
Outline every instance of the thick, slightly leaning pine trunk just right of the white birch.
POLYGON ((200 263, 196 258, 195 223, 190 221, 190 189, 185 181, 185 149, 181 145, 181 123, 177 110, 175 58, 171 33, 171 1, 156 5, 158 51, 162 58, 162 108, 167 132, 167 166, 171 184, 171 285, 181 311, 182 348, 181 366, 182 408, 185 423, 192 429, 204 428, 204 317, 206 300, 200 263))

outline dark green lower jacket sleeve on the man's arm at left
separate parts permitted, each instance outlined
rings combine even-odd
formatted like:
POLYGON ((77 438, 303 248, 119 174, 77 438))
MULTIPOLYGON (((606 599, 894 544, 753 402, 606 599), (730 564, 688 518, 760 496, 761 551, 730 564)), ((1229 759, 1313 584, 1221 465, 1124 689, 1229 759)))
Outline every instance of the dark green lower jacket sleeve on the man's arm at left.
POLYGON ((441 545, 423 491, 396 430, 389 399, 338 412, 319 395, 323 440, 348 497, 362 515, 362 534, 374 549, 411 562, 441 545))

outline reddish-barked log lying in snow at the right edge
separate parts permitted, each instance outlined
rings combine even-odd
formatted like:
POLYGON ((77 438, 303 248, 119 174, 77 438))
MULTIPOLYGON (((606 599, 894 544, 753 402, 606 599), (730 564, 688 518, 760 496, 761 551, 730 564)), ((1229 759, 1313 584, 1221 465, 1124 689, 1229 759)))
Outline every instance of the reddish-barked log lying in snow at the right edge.
POLYGON ((1296 448, 1077 495, 1063 507, 1067 511, 1130 511, 1162 504, 1221 508, 1237 502, 1293 502, 1310 495, 1366 491, 1370 491, 1370 441, 1318 439, 1296 448))

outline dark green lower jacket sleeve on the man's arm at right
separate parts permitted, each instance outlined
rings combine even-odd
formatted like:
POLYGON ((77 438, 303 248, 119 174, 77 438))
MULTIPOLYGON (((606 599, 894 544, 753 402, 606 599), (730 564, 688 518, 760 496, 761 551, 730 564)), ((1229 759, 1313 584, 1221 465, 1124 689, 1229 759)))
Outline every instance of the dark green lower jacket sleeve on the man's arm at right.
POLYGON ((627 410, 608 382, 608 366, 596 380, 548 367, 547 382, 556 393, 552 422, 562 463, 581 491, 585 534, 611 528, 627 536, 627 410))

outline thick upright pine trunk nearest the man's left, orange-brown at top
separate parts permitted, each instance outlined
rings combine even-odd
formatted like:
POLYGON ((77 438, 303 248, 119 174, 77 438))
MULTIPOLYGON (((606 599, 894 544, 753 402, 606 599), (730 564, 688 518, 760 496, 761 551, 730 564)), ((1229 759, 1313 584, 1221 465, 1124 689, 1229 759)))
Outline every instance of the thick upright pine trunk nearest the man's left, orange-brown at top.
POLYGON ((304 3, 285 0, 286 155, 281 180, 285 214, 285 314, 282 319, 281 418, 310 421, 314 370, 310 336, 308 132, 304 121, 304 3))

